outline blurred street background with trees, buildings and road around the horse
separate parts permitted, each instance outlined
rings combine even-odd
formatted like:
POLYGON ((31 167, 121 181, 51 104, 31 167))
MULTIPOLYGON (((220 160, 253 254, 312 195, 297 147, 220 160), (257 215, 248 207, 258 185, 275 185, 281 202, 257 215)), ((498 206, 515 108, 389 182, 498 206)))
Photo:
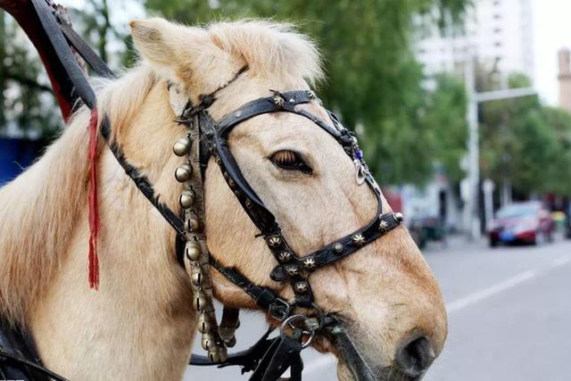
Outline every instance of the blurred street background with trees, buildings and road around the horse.
MULTIPOLYGON (((113 70, 128 21, 293 21, 326 58, 317 89, 443 287, 430 380, 564 380, 571 353, 571 3, 558 0, 61 0, 113 70), (566 361, 567 360, 567 361, 566 361)), ((64 128, 37 52, 0 12, 0 185, 64 128)), ((244 319, 243 319, 244 320, 244 319)), ((264 331, 252 314, 240 347, 264 331)), ((306 353, 306 377, 335 378, 306 353)), ((246 379, 236 369, 194 379, 246 379)))

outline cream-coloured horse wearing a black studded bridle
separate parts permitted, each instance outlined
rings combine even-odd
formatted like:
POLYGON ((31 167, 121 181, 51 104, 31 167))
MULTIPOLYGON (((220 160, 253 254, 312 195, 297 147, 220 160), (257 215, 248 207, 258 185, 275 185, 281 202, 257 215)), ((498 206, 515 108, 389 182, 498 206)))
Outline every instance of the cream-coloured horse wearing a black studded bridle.
MULTIPOLYGON (((227 84, 210 112, 219 120, 269 89, 310 89, 324 78, 318 48, 289 24, 217 22, 187 27, 162 19, 130 22, 141 56, 118 79, 97 84, 98 110, 111 140, 145 173, 161 201, 180 210, 173 178, 185 134, 169 85, 191 102, 227 84)), ((315 102, 311 112, 327 118, 315 102)), ((0 189, 0 316, 26 327, 47 368, 70 379, 181 379, 197 314, 175 232, 141 195, 99 139, 101 286, 87 283, 89 111, 76 112, 46 153, 0 189)), ((374 217, 376 199, 355 181, 353 162, 310 120, 291 113, 244 121, 229 137, 244 178, 297 253, 310 253, 374 217), (310 172, 278 166, 297 161, 310 172)), ((212 162, 214 158, 211 158, 212 162)), ((205 231, 212 257, 290 300, 269 277, 277 261, 211 163, 204 173, 205 231)), ((382 198, 383 207, 390 206, 382 198)), ((213 292, 239 309, 258 307, 212 269, 213 292)), ((419 379, 443 349, 447 318, 434 275, 403 226, 311 275, 315 300, 343 324, 378 379, 419 379)), ((269 325, 276 321, 268 318, 269 325)), ((311 344, 338 357, 342 380, 359 379, 327 337, 311 344)))

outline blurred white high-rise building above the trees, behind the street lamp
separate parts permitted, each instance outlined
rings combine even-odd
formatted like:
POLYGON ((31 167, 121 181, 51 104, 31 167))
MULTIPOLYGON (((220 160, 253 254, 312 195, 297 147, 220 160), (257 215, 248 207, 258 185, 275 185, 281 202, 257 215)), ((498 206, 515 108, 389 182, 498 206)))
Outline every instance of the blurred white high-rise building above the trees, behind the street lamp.
POLYGON ((475 0, 463 28, 420 29, 416 53, 427 76, 457 69, 469 51, 501 74, 534 79, 532 0, 475 0))

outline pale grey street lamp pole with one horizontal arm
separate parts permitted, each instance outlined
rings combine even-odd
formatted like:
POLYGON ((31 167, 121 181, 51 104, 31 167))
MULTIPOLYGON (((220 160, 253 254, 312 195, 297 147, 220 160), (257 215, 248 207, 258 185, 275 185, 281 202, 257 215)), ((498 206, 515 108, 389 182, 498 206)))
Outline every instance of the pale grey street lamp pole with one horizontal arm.
POLYGON ((476 92, 476 78, 474 73, 474 55, 468 54, 465 64, 465 81, 467 93, 468 120, 468 177, 466 203, 464 204, 464 226, 468 236, 479 238, 480 212, 478 207, 478 194, 480 189, 480 145, 478 141, 478 105, 489 101, 517 98, 520 96, 536 95, 533 87, 507 88, 484 93, 476 92))

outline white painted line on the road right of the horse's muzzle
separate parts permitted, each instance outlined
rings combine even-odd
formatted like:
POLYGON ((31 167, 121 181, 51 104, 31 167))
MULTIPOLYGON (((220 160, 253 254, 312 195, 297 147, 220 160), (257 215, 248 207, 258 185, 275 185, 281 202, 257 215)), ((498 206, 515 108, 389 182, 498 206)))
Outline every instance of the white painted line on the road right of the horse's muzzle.
POLYGON ((504 291, 507 291, 515 286, 521 285, 522 283, 534 279, 535 277, 542 277, 543 275, 549 273, 551 270, 565 266, 568 263, 571 263, 571 257, 569 256, 559 257, 555 261, 551 262, 550 267, 548 269, 543 269, 542 271, 536 269, 530 269, 522 273, 519 273, 514 277, 509 277, 508 279, 504 280, 501 283, 486 287, 482 290, 476 291, 476 293, 474 294, 469 294, 468 296, 464 296, 453 302, 449 302, 446 305, 446 311, 448 311, 448 313, 452 313, 463 310, 472 304, 481 302, 484 299, 487 299, 493 295, 501 294, 504 291))

